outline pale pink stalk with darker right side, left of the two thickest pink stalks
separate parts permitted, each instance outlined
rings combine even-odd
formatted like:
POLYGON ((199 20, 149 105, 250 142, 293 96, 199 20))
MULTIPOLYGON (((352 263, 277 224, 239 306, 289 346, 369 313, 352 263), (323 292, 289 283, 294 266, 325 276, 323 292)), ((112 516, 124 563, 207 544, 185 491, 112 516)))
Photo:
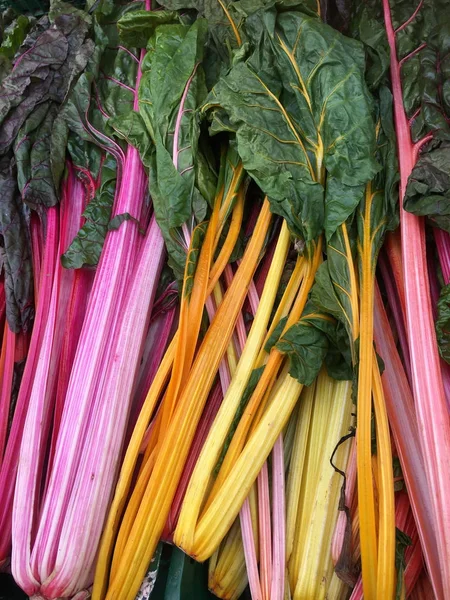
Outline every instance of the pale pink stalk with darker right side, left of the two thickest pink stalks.
MULTIPOLYGON (((67 248, 80 226, 84 209, 84 187, 71 166, 64 182, 60 205, 60 239, 58 256, 67 248)), ((50 311, 45 325, 42 346, 34 376, 23 441, 17 471, 13 504, 12 569, 16 581, 29 595, 37 591, 37 582, 30 571, 32 533, 40 506, 44 479, 44 459, 48 449, 49 428, 54 410, 58 365, 64 334, 64 321, 74 271, 63 269, 55 260, 50 311)))

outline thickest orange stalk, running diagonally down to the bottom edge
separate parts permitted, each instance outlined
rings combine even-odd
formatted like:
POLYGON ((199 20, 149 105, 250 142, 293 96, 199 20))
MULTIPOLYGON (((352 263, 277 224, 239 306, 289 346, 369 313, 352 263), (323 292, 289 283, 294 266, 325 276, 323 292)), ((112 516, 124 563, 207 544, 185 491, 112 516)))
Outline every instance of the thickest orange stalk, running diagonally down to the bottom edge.
POLYGON ((134 600, 146 573, 164 529, 204 404, 255 272, 270 220, 266 199, 241 265, 204 337, 167 434, 158 448, 143 502, 116 576, 110 582, 107 600, 134 600))

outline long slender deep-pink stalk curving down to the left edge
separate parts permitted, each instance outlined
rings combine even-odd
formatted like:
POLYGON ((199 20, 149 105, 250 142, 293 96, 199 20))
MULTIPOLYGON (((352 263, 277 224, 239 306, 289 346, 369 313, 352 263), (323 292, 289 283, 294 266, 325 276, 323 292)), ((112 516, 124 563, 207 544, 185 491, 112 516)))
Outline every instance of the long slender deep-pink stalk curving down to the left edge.
POLYGON ((49 317, 52 293, 53 272, 58 245, 58 208, 50 208, 46 213, 46 243, 42 268, 36 317, 31 336, 30 349, 17 398, 16 409, 4 461, 0 472, 0 566, 8 557, 11 548, 12 502, 16 481, 19 451, 22 441, 28 403, 38 367, 39 352, 44 340, 45 327, 49 317))

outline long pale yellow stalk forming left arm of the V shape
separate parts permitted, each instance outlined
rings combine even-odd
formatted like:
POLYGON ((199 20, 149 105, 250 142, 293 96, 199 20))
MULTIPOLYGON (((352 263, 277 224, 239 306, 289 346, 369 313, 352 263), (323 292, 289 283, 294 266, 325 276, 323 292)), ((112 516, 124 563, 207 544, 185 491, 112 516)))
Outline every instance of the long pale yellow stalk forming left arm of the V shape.
POLYGON ((247 342, 189 481, 175 532, 176 543, 183 547, 192 546, 195 527, 210 484, 211 474, 264 341, 289 245, 290 234, 287 226, 283 224, 247 342))

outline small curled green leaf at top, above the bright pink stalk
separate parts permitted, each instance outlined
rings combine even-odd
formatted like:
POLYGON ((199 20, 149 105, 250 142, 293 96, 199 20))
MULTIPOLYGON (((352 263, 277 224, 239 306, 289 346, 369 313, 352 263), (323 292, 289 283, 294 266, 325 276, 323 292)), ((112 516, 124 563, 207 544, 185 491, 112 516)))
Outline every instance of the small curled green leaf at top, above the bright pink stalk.
POLYGON ((169 10, 137 10, 125 13, 117 21, 122 42, 134 48, 146 48, 150 36, 158 25, 178 21, 178 14, 169 10))

